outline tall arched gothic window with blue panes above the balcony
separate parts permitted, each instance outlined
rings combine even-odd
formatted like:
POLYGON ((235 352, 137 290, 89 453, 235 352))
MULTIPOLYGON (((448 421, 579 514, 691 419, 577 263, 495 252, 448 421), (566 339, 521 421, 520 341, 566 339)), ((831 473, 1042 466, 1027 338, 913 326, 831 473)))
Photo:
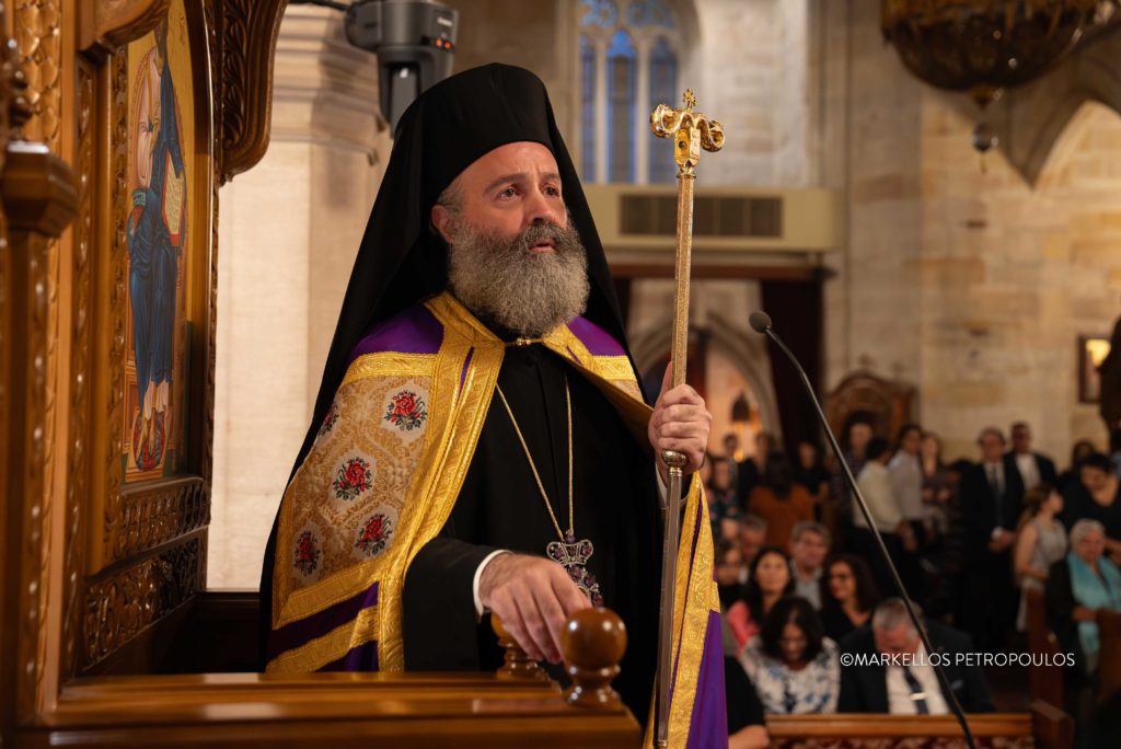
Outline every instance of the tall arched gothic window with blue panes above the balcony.
POLYGON ((590 182, 673 182, 665 141, 650 132, 657 103, 680 104, 680 31, 667 0, 582 0, 581 172, 590 182))

